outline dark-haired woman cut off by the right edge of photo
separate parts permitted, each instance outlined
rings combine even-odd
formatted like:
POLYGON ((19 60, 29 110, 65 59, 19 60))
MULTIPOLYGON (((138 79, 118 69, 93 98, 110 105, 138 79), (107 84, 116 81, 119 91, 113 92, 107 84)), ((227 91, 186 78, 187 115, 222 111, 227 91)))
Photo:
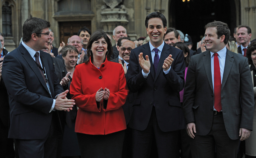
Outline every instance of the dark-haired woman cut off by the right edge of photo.
MULTIPOLYGON (((256 42, 252 42, 247 47, 246 57, 252 74, 254 103, 256 103, 256 42)), ((256 104, 254 104, 253 131, 250 132, 250 137, 245 140, 245 150, 245 158, 256 158, 256 104)))

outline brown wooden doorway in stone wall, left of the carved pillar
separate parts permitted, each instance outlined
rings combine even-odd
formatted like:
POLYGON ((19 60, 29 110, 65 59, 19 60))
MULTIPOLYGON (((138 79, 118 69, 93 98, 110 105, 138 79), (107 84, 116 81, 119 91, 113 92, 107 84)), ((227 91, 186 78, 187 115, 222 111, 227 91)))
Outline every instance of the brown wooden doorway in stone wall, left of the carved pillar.
POLYGON ((77 35, 77 32, 84 26, 91 30, 91 21, 59 22, 60 43, 63 41, 67 44, 68 38, 73 35, 77 35))

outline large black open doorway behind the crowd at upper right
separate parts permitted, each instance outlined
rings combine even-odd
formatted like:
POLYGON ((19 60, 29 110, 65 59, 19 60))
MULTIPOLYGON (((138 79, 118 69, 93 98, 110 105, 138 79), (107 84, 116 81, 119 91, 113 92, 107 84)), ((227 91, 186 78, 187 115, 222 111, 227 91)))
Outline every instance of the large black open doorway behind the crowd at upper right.
POLYGON ((204 26, 216 21, 227 23, 231 35, 236 27, 236 6, 234 0, 171 0, 169 26, 189 34, 196 44, 204 36, 204 26), (184 1, 184 2, 183 2, 184 1))

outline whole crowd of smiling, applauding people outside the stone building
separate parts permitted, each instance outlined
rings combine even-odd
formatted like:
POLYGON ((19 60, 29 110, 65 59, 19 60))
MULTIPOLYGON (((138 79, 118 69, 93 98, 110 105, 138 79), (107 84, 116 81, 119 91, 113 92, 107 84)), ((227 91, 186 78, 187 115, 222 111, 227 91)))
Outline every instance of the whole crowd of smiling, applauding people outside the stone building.
POLYGON ((0 157, 256 158, 256 42, 247 25, 192 39, 145 18, 131 41, 84 27, 59 48, 31 15, 20 45, 0 34, 0 157))

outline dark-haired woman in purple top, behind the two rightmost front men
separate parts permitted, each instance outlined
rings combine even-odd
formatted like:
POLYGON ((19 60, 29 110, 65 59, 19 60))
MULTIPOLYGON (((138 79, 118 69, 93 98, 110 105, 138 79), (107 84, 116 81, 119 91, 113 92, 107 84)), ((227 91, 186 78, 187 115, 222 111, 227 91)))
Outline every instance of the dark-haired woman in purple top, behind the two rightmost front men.
MULTIPOLYGON (((186 69, 185 69, 185 81, 186 81, 186 72, 188 70, 188 66, 189 66, 189 62, 190 62, 189 48, 183 42, 176 42, 173 46, 183 51, 185 65, 186 65, 186 69)), ((184 93, 184 89, 180 91, 180 104, 181 105, 183 104, 183 93, 184 93)), ((190 145, 189 145, 190 137, 187 134, 186 129, 180 130, 180 135, 181 135, 181 138, 180 138, 181 158, 192 158, 192 155, 190 152, 190 145)))

